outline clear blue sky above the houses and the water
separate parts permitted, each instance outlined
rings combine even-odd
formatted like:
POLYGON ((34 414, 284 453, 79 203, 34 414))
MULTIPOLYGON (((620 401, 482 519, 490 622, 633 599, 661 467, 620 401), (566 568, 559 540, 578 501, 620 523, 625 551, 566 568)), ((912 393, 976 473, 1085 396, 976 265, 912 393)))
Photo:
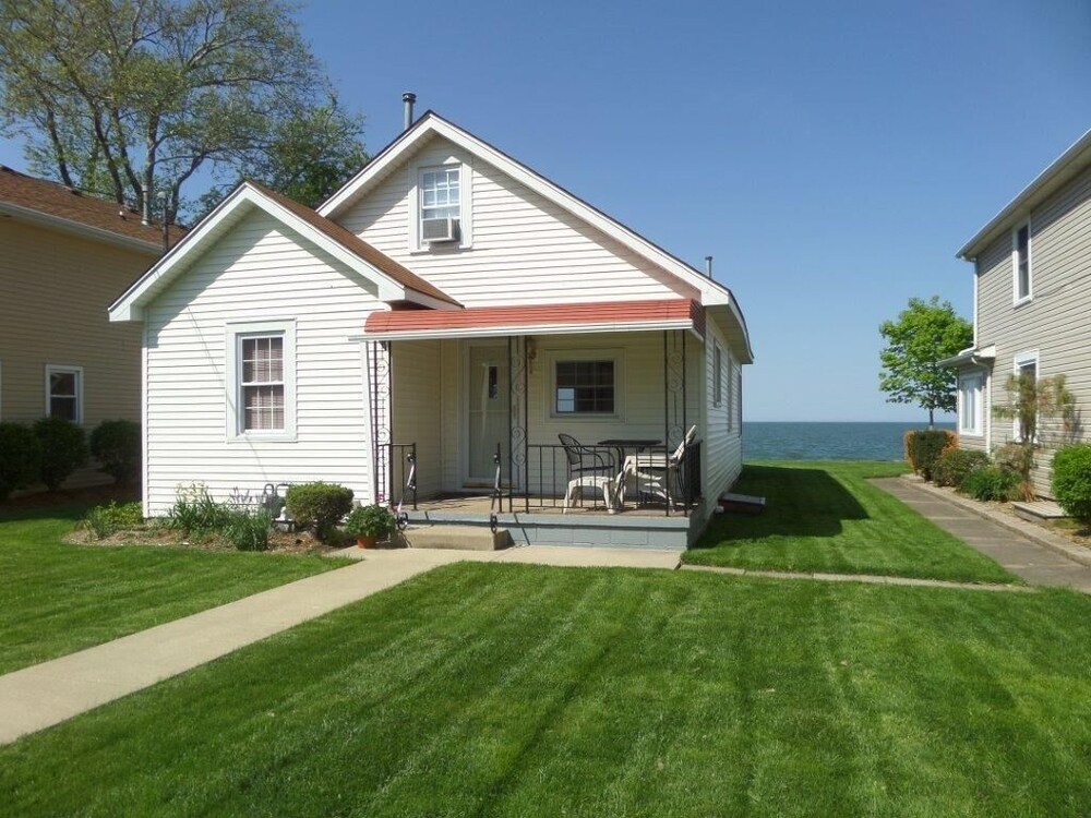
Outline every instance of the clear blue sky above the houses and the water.
MULTIPOLYGON (((434 108, 734 291, 750 420, 920 421, 878 390, 911 296, 1091 127, 1091 3, 314 0, 374 152, 434 108)), ((24 166, 0 142, 0 163, 24 166)))

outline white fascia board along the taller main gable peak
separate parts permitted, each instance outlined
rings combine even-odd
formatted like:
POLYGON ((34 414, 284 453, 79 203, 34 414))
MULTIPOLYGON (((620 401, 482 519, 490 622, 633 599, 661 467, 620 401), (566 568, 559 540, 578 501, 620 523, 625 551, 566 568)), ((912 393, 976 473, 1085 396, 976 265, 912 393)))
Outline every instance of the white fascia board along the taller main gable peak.
POLYGON ((383 178, 392 166, 406 158, 406 155, 411 154, 417 145, 432 135, 442 136, 455 143, 465 151, 507 173, 507 176, 553 204, 606 233, 614 241, 667 269, 669 273, 673 273, 676 277, 700 292, 703 304, 730 303, 730 293, 719 282, 698 273, 685 262, 675 258, 666 250, 656 246, 601 210, 583 202, 572 193, 568 193, 568 191, 530 170, 527 166, 497 151, 492 145, 482 142, 473 134, 447 122, 434 112, 429 112, 422 117, 412 128, 392 142, 379 156, 350 179, 344 188, 326 200, 319 207, 319 214, 326 218, 335 218, 337 212, 343 206, 365 191, 372 181, 383 178))

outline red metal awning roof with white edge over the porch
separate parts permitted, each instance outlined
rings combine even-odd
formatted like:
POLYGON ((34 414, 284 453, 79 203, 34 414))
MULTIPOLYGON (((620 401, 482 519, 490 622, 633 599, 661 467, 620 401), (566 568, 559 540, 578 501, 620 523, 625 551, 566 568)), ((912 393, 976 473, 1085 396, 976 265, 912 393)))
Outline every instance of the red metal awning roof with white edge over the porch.
POLYGON ((509 335, 571 335, 654 329, 705 333, 705 309, 687 298, 599 303, 471 306, 464 310, 373 312, 367 340, 487 338, 509 335))

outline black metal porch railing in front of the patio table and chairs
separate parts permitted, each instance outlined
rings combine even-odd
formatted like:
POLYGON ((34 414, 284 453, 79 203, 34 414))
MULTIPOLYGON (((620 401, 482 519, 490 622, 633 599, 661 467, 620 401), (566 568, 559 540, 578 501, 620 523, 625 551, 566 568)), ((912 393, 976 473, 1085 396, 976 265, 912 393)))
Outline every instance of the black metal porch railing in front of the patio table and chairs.
POLYGON ((573 452, 560 444, 528 444, 518 498, 526 512, 567 505, 688 514, 700 497, 700 441, 692 442, 675 462, 674 447, 582 445, 573 452))

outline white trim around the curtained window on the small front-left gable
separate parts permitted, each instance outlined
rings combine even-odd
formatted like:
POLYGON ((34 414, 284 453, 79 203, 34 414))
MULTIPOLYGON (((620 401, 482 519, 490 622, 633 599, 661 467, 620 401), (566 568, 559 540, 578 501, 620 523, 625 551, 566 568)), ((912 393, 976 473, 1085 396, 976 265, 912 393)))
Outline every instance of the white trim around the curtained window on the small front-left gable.
POLYGON ((224 351, 226 359, 225 416, 228 443, 269 441, 292 443, 296 437, 296 320, 279 318, 253 322, 228 322, 225 325, 224 351), (245 431, 239 382, 239 361, 242 338, 254 335, 284 336, 284 429, 273 431, 245 431))

